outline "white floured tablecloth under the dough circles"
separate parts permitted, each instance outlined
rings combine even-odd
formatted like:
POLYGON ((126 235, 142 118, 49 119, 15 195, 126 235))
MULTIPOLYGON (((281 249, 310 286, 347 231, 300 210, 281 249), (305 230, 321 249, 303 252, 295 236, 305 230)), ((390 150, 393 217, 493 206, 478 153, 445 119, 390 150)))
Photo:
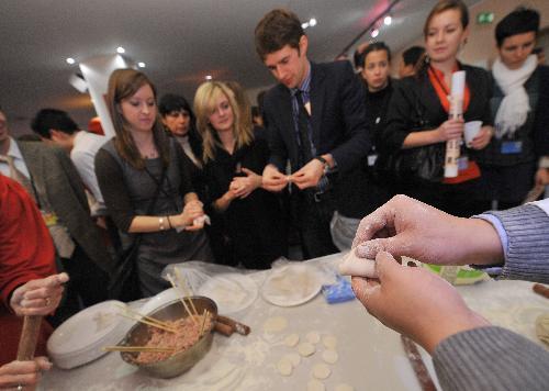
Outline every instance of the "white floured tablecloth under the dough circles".
MULTIPOLYGON (((340 255, 312 260, 332 266, 340 255)), ((250 275, 254 277, 254 275, 250 275)), ((257 275, 259 287, 265 272, 257 275)), ((535 294, 531 283, 522 281, 484 281, 477 286, 459 287, 466 301, 494 324, 508 327, 536 340, 534 320, 549 311, 549 300, 535 294)), ((214 335, 212 349, 190 371, 173 379, 155 379, 122 361, 120 354, 110 353, 79 368, 54 368, 45 373, 43 390, 306 390, 311 370, 322 362, 323 344, 301 364, 290 377, 277 371, 277 362, 295 348, 287 347, 283 338, 298 333, 301 340, 311 331, 337 337, 339 360, 330 365, 332 375, 324 380, 327 390, 339 383, 355 390, 421 390, 412 367, 404 355, 399 334, 370 316, 357 301, 327 304, 318 294, 312 301, 293 308, 279 308, 261 295, 234 315, 251 327, 251 334, 234 334, 226 338, 214 335), (288 327, 278 334, 267 334, 265 322, 273 316, 288 320, 288 327)), ((538 342, 539 343, 539 342, 538 342)), ((436 380, 428 355, 424 360, 436 380)))

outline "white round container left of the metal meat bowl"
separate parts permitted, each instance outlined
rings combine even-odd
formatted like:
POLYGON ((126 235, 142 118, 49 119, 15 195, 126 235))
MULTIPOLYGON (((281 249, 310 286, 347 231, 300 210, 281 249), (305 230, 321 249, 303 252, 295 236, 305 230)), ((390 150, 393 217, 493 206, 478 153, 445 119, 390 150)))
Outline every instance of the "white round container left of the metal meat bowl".
POLYGON ((47 342, 52 360, 65 369, 78 367, 103 356, 103 346, 120 343, 135 322, 116 315, 123 311, 119 305, 126 304, 104 301, 65 321, 47 342))

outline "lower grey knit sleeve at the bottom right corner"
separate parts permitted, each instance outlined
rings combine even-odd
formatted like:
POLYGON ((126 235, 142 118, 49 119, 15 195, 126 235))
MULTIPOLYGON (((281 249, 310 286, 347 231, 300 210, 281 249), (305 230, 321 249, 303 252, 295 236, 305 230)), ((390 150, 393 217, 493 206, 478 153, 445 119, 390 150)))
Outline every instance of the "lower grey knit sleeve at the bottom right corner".
POLYGON ((549 351, 502 327, 450 336, 438 344, 433 362, 445 391, 549 389, 549 351))

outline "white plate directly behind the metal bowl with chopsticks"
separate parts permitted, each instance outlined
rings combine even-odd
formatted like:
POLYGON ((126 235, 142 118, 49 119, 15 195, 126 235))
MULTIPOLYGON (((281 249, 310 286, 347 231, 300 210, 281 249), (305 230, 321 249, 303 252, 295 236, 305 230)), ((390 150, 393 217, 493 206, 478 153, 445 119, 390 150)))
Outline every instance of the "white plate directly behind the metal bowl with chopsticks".
POLYGON ((246 275, 222 273, 208 279, 198 294, 212 299, 220 314, 247 309, 257 298, 257 284, 246 275))

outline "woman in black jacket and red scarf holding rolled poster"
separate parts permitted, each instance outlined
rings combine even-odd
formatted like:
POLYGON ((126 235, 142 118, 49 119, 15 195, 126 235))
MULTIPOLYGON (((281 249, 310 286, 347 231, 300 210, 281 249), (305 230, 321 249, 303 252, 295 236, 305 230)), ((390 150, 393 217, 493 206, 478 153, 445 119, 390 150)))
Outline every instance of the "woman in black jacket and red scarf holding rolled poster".
POLYGON ((457 58, 469 35, 468 24, 469 13, 460 0, 442 0, 433 8, 424 26, 425 60, 416 75, 395 88, 378 145, 379 165, 386 169, 394 193, 459 216, 477 212, 481 174, 469 148, 484 148, 492 136, 490 76, 457 58), (457 70, 467 74, 463 119, 448 120, 450 82, 457 70), (461 138, 464 122, 475 120, 483 125, 468 148, 461 148, 458 177, 442 178, 446 142, 461 138))

